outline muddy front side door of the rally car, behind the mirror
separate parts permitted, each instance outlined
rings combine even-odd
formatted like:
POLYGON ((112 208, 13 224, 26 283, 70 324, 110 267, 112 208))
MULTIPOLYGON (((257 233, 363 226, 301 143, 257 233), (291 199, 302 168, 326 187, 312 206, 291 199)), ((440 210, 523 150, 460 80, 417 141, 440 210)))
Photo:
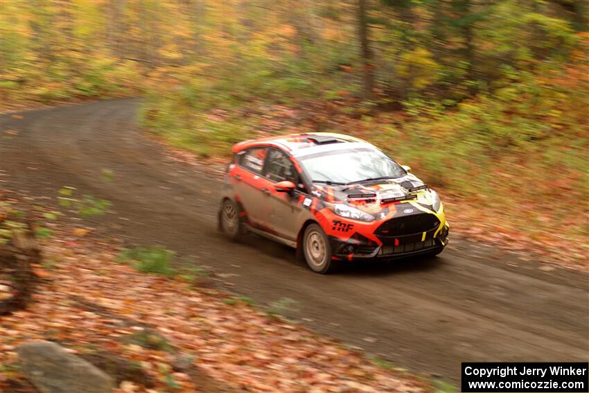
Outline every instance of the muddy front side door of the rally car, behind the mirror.
POLYGON ((290 241, 296 241, 301 223, 302 207, 297 204, 301 193, 300 186, 292 193, 279 192, 274 189, 274 184, 288 180, 299 184, 299 175, 294 168, 290 157, 281 150, 268 149, 264 176, 270 181, 267 189, 267 225, 272 232, 290 241))

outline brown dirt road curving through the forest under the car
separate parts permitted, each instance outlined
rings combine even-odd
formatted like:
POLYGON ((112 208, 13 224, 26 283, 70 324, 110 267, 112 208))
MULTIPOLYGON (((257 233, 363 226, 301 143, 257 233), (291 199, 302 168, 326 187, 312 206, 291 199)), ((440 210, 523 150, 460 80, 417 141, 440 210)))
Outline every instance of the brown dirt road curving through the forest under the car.
POLYGON ((51 198, 74 186, 109 200, 101 231, 164 244, 259 304, 294 299, 292 317, 415 372, 457 382, 461 361, 588 360, 588 274, 452 238, 437 259, 320 276, 288 247, 255 236, 228 243, 216 231, 221 180, 166 159, 139 130, 137 107, 128 99, 1 116, 2 184, 51 198))

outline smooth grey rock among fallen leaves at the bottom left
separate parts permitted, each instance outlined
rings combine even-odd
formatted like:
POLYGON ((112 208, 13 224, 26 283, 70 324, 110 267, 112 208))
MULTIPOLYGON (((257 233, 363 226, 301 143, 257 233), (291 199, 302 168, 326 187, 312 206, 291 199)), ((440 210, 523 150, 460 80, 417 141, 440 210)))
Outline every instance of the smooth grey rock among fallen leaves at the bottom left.
POLYGON ((79 356, 49 341, 17 347, 21 371, 42 393, 109 393, 112 378, 79 356))

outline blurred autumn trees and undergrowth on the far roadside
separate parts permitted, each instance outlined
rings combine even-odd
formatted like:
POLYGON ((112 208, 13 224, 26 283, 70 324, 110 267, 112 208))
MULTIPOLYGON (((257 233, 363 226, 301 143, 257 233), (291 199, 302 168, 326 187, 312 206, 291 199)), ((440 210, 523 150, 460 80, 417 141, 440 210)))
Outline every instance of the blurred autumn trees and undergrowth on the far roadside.
POLYGON ((142 94, 143 126, 202 159, 253 137, 354 134, 440 189, 454 233, 586 264, 583 1, 2 7, 3 107, 142 94))

